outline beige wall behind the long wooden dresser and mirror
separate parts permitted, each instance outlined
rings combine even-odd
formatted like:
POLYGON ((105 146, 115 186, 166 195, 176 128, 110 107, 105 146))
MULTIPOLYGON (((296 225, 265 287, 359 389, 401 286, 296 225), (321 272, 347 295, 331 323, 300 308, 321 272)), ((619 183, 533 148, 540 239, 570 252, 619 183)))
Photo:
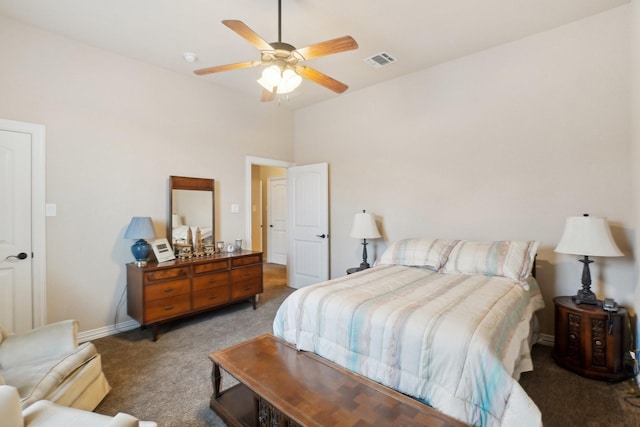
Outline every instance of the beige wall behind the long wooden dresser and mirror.
POLYGON ((245 157, 293 157, 290 112, 196 76, 2 17, 0 58, 0 117, 47 130, 48 322, 114 323, 133 260, 124 231, 151 216, 165 235, 169 175, 216 180, 216 238, 230 241, 245 232, 245 157))

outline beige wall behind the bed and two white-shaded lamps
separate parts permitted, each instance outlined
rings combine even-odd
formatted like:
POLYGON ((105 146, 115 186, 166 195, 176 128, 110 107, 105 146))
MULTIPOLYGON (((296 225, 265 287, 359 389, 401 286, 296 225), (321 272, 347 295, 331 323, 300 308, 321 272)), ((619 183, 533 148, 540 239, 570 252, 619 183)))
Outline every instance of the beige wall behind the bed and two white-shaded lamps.
POLYGON ((630 304, 629 72, 625 6, 296 112, 296 163, 330 164, 332 276, 360 261, 362 209, 383 234, 370 258, 405 237, 537 239, 553 335, 552 299, 582 268, 553 248, 590 213, 626 254, 592 264, 592 289, 630 304))

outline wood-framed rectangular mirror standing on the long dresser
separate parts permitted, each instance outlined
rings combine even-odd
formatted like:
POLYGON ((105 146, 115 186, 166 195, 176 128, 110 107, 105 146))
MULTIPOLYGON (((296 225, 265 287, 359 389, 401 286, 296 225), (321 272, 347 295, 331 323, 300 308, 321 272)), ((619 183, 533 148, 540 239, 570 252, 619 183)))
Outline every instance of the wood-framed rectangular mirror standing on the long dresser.
POLYGON ((193 242, 196 232, 203 244, 215 243, 214 180, 170 176, 167 239, 178 252, 181 245, 193 242))

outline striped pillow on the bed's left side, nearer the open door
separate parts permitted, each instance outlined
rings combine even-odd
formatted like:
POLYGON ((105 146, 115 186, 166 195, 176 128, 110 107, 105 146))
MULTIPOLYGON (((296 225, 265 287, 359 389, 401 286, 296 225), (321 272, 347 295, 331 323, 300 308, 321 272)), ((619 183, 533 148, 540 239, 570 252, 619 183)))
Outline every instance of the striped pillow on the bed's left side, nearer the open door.
POLYGON ((388 247, 375 265, 406 265, 439 270, 457 240, 403 239, 388 247))

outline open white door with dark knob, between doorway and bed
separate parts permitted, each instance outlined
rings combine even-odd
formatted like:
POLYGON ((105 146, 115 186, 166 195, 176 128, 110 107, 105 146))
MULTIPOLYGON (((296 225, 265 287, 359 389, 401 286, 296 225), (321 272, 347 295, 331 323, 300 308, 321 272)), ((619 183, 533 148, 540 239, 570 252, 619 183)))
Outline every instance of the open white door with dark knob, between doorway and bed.
POLYGON ((301 288, 329 279, 329 165, 287 169, 288 284, 301 288))

